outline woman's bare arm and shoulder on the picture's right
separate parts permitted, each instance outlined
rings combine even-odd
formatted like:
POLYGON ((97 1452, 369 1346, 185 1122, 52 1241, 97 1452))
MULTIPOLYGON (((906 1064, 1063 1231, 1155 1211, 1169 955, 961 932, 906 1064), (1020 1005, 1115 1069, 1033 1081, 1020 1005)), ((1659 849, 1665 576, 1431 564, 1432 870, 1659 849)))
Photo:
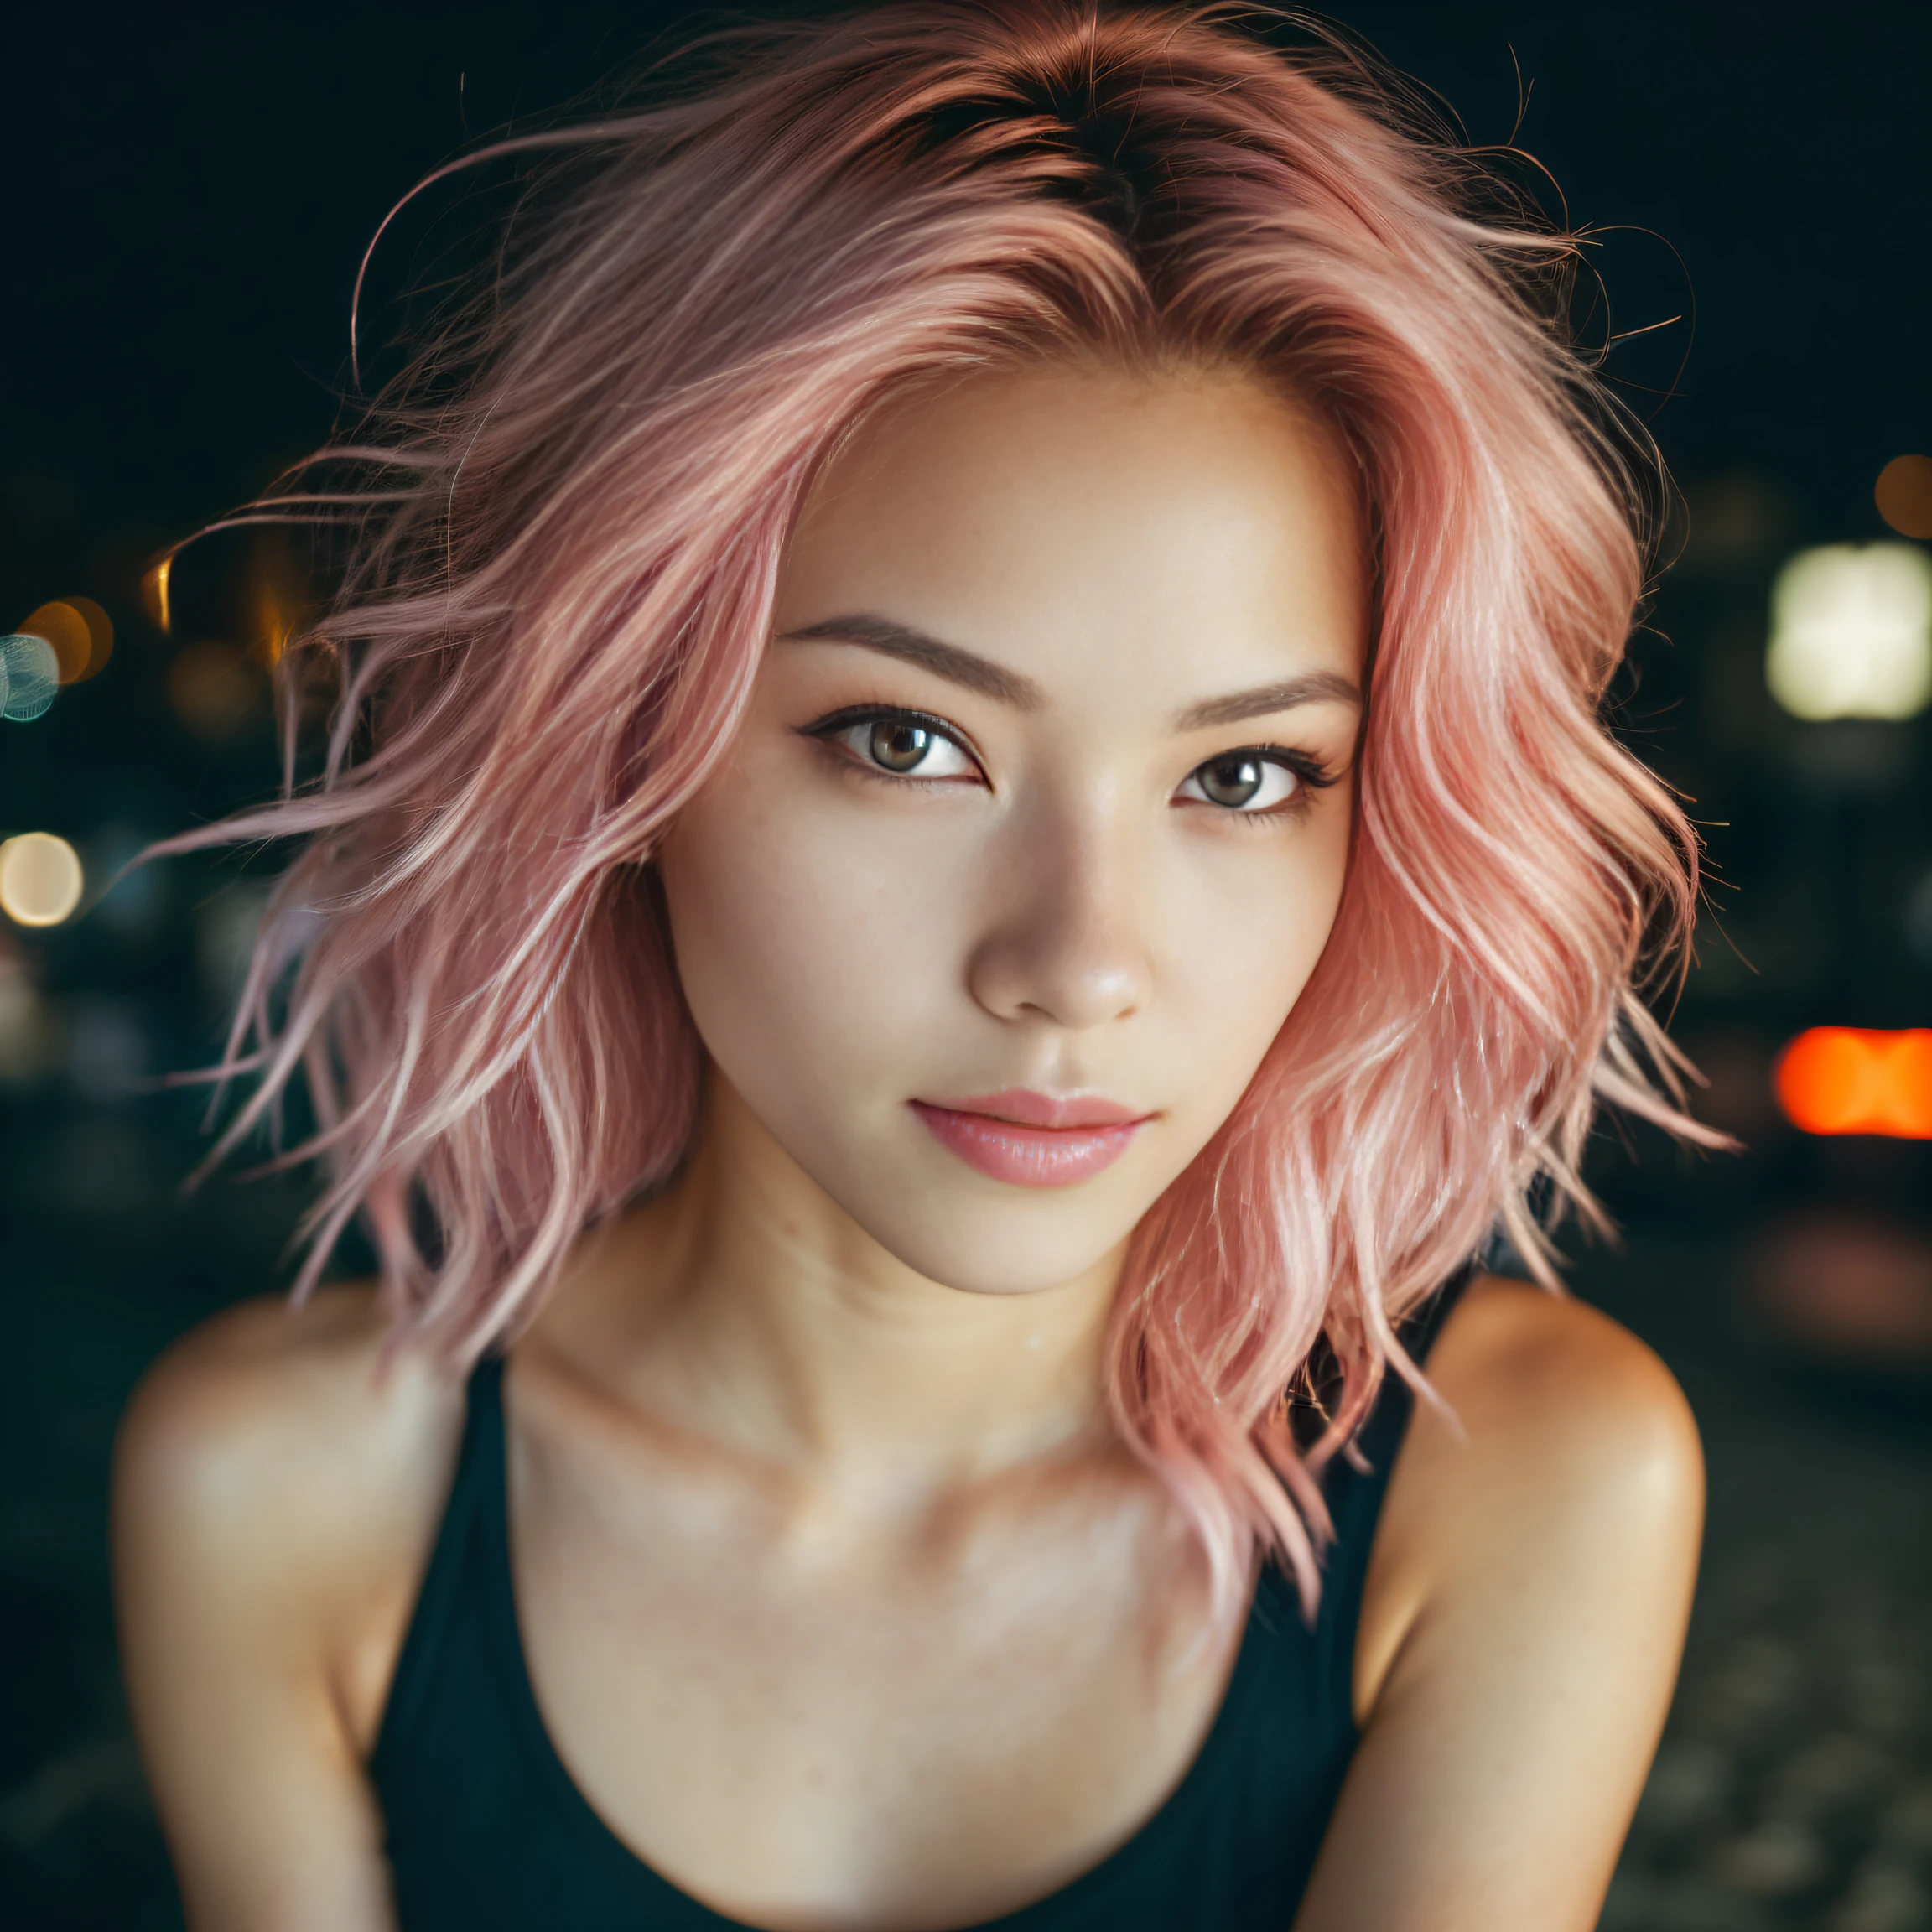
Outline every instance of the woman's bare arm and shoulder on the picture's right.
POLYGON ((1588 1932, 1669 1706, 1702 1459, 1577 1302, 1486 1283, 1430 1362, 1364 1605, 1366 1729, 1298 1932, 1588 1932))

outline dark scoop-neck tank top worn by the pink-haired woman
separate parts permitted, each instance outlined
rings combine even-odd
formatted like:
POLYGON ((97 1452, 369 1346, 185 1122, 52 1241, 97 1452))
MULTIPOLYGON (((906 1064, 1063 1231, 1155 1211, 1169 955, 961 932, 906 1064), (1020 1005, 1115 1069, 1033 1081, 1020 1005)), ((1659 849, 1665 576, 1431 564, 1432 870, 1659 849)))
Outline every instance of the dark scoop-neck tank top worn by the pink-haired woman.
MULTIPOLYGON (((1463 1287, 1405 1337, 1420 1360, 1463 1287)), ((970 1932, 1281 1932, 1354 1754, 1354 1627, 1412 1401, 1397 1376, 1327 1476, 1335 1544, 1310 1627, 1267 1567, 1221 1708, 1180 1783, 1119 1851, 970 1932)), ((448 1511, 369 1776, 404 1932, 742 1932, 643 1862, 564 1770, 510 1588, 502 1362, 469 1378, 448 1511)))

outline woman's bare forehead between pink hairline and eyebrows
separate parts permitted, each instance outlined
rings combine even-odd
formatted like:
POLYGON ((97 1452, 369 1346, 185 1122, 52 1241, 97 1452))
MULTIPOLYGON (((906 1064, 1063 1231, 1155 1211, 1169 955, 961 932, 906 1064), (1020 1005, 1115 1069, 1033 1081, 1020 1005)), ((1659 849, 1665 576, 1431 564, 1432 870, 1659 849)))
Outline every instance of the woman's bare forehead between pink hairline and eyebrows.
POLYGON ((1354 674, 1337 439, 1258 381, 1041 367, 902 398, 827 468, 779 630, 869 612, 1057 686, 1354 674))

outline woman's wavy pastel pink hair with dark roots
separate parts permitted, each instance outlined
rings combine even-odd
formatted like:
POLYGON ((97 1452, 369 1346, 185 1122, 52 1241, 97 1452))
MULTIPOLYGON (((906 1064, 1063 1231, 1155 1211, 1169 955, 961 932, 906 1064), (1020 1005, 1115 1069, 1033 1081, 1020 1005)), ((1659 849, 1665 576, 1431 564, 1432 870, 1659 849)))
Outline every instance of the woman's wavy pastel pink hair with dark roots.
POLYGON ((298 1293, 361 1211, 396 1333, 473 1358, 684 1153, 701 1049, 639 862, 730 744, 829 452, 908 384, 1059 355, 1314 404, 1376 531, 1347 893, 1138 1229, 1107 1350, 1223 1611, 1256 1551, 1314 1604, 1318 1470, 1497 1217, 1553 1279, 1526 1192, 1596 1217, 1596 1103, 1698 1132, 1633 989, 1689 931, 1696 844, 1600 723, 1642 560, 1557 323, 1575 243, 1480 216, 1493 184, 1358 66, 1229 14, 906 0, 543 137, 574 145, 539 218, 317 458, 369 481, 251 512, 355 531, 288 659, 340 680, 319 781, 176 840, 305 837, 218 1068, 261 1076, 224 1148, 307 1076, 290 1159, 330 1182, 298 1293), (1341 1393, 1302 1455, 1321 1337, 1341 1393))

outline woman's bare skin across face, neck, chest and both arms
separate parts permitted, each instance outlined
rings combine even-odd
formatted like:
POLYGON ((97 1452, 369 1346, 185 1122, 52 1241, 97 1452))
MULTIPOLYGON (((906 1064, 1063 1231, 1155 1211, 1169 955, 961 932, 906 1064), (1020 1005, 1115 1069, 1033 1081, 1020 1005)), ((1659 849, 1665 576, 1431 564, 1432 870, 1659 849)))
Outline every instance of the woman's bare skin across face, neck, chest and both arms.
MULTIPOLYGON (((1329 437, 1231 375, 980 377, 813 493, 744 736, 659 856, 711 1055, 694 1157, 583 1244, 506 1379, 549 1731, 730 1917, 1012 1911, 1200 1748, 1238 1631, 1202 1642, 1099 1345, 1134 1223, 1327 939, 1364 580, 1329 437), (943 721, 922 771, 838 723, 866 705, 943 721), (1260 746, 1279 810, 1202 792, 1260 746), (1146 1121, 1024 1188, 908 1105, 1005 1088, 1146 1121)), ((124 1426, 128 1679, 199 1932, 392 1924, 361 1766, 462 1391, 377 1376, 379 1343, 361 1289, 249 1304, 124 1426)), ((1636 1341, 1520 1283, 1466 1294, 1432 1376, 1457 1422, 1418 1410, 1391 1480, 1366 1737, 1293 1922, 1580 1932, 1669 1698, 1696 1435, 1636 1341)))

